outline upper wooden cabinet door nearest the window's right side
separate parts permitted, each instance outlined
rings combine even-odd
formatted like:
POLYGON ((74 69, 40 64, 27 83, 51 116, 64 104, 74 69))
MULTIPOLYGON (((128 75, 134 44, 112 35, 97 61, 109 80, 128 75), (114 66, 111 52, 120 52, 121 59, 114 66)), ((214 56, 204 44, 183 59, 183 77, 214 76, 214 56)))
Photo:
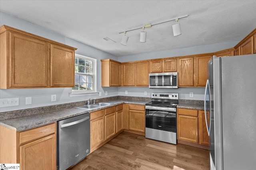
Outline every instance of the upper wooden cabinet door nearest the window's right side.
POLYGON ((110 86, 121 85, 121 64, 110 61, 110 86))

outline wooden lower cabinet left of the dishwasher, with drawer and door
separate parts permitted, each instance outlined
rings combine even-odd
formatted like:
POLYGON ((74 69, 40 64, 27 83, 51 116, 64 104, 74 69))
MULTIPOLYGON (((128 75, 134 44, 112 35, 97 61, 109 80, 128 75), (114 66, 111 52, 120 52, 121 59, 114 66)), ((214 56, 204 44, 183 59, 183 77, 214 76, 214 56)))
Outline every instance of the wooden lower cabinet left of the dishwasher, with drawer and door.
POLYGON ((20 164, 20 170, 56 170, 56 123, 16 132, 0 126, 0 162, 20 164))

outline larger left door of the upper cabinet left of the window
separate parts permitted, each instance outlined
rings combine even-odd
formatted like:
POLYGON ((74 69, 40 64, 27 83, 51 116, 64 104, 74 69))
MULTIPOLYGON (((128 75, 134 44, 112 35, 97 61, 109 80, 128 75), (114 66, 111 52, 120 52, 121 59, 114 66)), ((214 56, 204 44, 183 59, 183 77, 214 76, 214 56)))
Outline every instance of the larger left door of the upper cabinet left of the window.
POLYGON ((38 39, 10 33, 9 88, 48 86, 49 47, 38 39))

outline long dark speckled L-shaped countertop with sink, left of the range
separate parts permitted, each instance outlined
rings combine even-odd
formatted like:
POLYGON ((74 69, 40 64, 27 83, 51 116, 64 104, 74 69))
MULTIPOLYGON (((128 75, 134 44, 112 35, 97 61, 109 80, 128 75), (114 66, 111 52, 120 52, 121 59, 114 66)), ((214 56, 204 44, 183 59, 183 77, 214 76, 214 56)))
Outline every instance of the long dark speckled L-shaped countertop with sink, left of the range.
POLYGON ((71 107, 66 109, 46 111, 44 113, 37 113, 32 115, 26 115, 26 113, 24 113, 24 116, 21 116, 21 117, 0 120, 0 125, 7 127, 9 129, 12 129, 14 131, 25 131, 35 127, 47 125, 55 121, 67 119, 70 117, 82 115, 85 113, 90 113, 90 112, 101 110, 101 109, 106 109, 108 107, 117 106, 123 103, 145 105, 149 101, 148 100, 132 100, 132 99, 116 99, 116 100, 108 100, 107 102, 112 104, 108 106, 98 107, 95 109, 90 109, 88 111, 87 110, 85 111, 85 109, 83 108, 71 107))

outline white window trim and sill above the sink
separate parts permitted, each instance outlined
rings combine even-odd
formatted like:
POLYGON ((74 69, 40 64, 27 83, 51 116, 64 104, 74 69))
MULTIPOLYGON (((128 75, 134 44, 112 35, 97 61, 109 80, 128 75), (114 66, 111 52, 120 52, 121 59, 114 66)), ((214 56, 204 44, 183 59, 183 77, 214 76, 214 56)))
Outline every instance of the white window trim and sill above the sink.
MULTIPOLYGON (((83 58, 83 59, 88 59, 92 61, 92 76, 93 76, 93 90, 72 90, 72 93, 70 93, 70 97, 75 97, 75 96, 87 96, 87 95, 94 95, 98 94, 97 92, 97 59, 93 59, 90 57, 82 56, 79 54, 75 54, 75 57, 83 58)), ((75 73, 76 74, 76 73, 75 73)))

